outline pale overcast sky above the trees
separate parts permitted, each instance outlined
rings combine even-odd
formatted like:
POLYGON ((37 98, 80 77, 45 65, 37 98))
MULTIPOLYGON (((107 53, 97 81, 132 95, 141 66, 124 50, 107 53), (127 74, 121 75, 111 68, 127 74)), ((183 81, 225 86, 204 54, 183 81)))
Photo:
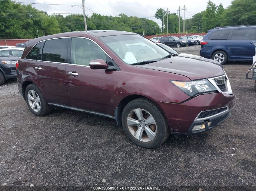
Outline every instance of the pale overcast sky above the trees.
MULTIPOLYGON (((230 5, 231 0, 211 0, 216 5, 223 4, 224 8, 230 5)), ((28 2, 28 3, 47 3, 47 4, 62 4, 62 5, 37 5, 32 4, 39 10, 54 13, 75 13, 82 14, 83 10, 77 6, 71 7, 70 5, 81 5, 82 0, 16 0, 16 2, 28 2), (63 5, 64 4, 64 5, 63 5), (65 5, 66 4, 66 5, 65 5)), ((118 16, 121 13, 125 13, 128 16, 147 17, 153 21, 156 21, 161 25, 161 20, 154 17, 158 8, 168 8, 170 13, 177 13, 179 6, 187 8, 185 11, 185 19, 191 18, 194 14, 204 11, 206 9, 208 0, 180 0, 180 1, 166 1, 166 0, 85 0, 85 7, 92 11, 102 15, 118 16)), ((85 13, 89 16, 92 11, 85 9, 85 13)), ((182 12, 181 16, 184 16, 182 12)))

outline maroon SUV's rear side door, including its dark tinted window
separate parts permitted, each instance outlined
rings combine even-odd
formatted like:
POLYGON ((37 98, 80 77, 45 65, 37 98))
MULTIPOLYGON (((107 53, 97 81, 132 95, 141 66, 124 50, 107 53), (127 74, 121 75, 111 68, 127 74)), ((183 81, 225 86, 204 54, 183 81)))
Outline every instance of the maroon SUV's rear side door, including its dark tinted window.
POLYGON ((35 83, 49 103, 70 105, 66 85, 68 37, 43 41, 34 64, 35 83))

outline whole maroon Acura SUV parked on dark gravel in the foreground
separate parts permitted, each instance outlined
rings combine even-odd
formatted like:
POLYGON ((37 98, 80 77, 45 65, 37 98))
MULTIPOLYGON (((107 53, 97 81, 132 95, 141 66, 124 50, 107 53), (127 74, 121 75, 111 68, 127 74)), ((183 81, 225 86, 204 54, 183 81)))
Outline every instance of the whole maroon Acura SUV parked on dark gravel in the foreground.
POLYGON ((235 96, 222 65, 178 56, 122 31, 78 31, 27 42, 18 89, 36 116, 53 106, 106 116, 137 145, 207 131, 227 119, 235 96))

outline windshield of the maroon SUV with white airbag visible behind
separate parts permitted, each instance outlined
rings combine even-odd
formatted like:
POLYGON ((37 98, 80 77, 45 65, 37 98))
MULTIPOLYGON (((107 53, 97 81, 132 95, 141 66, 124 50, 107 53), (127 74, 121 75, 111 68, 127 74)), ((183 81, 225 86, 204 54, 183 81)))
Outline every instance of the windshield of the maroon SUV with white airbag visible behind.
POLYGON ((169 55, 156 43, 136 34, 100 37, 100 40, 127 64, 158 61, 169 55))

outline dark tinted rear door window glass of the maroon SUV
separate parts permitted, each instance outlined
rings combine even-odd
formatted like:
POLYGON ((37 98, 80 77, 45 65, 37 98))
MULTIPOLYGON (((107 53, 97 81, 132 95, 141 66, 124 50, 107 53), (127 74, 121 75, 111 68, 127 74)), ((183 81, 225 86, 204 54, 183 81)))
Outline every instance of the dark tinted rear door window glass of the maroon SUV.
POLYGON ((42 60, 49 62, 67 63, 68 38, 46 40, 42 60))

